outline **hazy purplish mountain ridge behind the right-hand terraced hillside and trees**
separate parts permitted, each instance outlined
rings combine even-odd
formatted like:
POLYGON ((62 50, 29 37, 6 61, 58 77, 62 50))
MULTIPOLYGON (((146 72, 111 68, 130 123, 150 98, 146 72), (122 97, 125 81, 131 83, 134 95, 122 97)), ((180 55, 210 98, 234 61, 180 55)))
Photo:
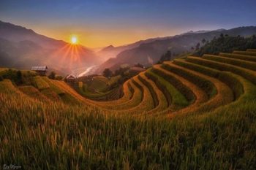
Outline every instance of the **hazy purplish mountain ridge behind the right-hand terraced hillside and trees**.
POLYGON ((132 66, 135 63, 141 63, 145 66, 150 66, 152 63, 157 63, 161 55, 167 50, 171 50, 172 53, 176 54, 189 52, 198 42, 202 44, 202 39, 210 41, 214 36, 219 36, 219 34, 251 36, 252 34, 256 34, 256 27, 246 26, 229 30, 190 31, 189 33, 177 36, 153 39, 149 42, 140 43, 138 47, 133 47, 118 53, 116 58, 110 58, 108 61, 105 61, 105 63, 102 63, 98 67, 97 73, 102 73, 105 68, 110 68, 112 70, 118 69, 122 64, 129 64, 132 66))

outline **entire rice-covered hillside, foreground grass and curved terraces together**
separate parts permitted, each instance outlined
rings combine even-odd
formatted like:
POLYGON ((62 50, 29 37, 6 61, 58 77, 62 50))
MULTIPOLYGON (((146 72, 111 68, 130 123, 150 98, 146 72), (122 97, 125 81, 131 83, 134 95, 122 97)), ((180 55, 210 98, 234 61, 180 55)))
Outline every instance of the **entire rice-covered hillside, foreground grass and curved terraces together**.
POLYGON ((0 69, 0 158, 25 169, 255 169, 255 58, 165 61, 124 82, 116 101, 0 69))

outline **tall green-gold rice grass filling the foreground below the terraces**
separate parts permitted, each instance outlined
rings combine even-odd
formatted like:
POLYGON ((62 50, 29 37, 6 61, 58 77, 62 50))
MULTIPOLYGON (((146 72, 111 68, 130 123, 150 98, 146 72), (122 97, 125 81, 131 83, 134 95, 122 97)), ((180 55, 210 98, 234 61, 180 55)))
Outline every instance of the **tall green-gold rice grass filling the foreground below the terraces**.
POLYGON ((1 166, 256 169, 255 93, 215 112, 170 121, 105 115, 86 105, 45 104, 4 80, 0 82, 1 166))

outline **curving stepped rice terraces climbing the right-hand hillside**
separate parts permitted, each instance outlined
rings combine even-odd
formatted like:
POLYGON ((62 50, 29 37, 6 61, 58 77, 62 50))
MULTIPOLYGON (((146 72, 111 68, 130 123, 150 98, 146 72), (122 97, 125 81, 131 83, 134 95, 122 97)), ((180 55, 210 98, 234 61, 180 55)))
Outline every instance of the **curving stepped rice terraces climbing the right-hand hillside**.
POLYGON ((129 111, 171 112, 170 116, 173 116, 186 112, 209 112, 242 100, 246 96, 244 85, 247 81, 244 78, 255 82, 256 63, 252 56, 255 53, 234 53, 248 55, 220 53, 220 56, 203 55, 202 58, 191 56, 154 65, 124 84, 127 86, 124 87, 127 89, 124 90, 124 97, 132 93, 132 98, 127 101, 121 98, 121 103, 113 101, 113 109, 118 109, 120 105, 120 108, 129 111))

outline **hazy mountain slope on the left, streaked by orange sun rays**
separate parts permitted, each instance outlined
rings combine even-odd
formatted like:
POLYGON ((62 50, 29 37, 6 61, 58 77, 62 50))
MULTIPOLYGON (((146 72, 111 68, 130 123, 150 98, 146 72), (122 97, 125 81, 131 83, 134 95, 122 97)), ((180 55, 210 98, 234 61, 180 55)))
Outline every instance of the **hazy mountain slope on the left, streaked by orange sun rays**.
POLYGON ((31 29, 0 21, 1 66, 30 69, 34 65, 47 65, 50 69, 68 74, 100 62, 102 59, 87 47, 70 45, 31 29))

